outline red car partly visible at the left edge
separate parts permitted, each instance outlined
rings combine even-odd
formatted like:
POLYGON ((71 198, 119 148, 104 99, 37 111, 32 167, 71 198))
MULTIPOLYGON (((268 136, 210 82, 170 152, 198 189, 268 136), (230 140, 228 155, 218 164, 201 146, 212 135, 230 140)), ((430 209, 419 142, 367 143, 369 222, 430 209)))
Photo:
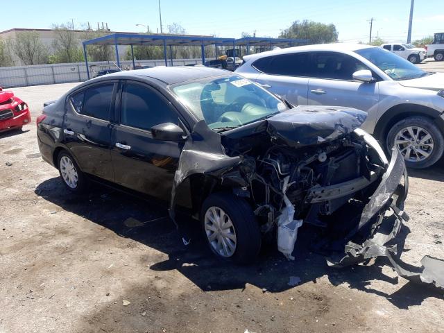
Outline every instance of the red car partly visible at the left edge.
POLYGON ((0 87, 0 132, 15 130, 31 123, 28 104, 0 87))

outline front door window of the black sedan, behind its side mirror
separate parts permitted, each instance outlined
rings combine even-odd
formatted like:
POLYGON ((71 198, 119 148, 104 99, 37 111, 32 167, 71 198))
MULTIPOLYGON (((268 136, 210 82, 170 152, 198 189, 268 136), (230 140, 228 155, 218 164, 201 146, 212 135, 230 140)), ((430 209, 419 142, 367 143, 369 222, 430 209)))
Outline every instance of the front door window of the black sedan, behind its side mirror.
POLYGON ((126 83, 122 89, 120 123, 150 130, 160 123, 178 124, 178 115, 152 89, 136 83, 126 83))

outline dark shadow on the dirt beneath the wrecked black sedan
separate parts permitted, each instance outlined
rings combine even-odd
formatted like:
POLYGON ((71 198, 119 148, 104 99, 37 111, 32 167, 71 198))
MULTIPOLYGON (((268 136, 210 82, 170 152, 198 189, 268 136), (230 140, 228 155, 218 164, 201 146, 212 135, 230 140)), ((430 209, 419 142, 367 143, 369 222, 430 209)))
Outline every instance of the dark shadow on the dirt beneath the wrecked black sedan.
MULTIPOLYGON (((296 254, 294 262, 287 261, 278 253, 275 244, 267 244, 255 264, 234 266, 212 257, 200 234, 199 224, 178 214, 178 221, 191 236, 190 244, 185 246, 176 226, 168 218, 165 204, 141 200, 99 185, 94 185, 87 196, 76 196, 65 189, 60 178, 42 182, 35 193, 63 210, 109 228, 121 237, 166 253, 169 259, 151 265, 151 270, 177 270, 202 291, 244 289, 248 283, 273 293, 294 288, 288 284, 291 276, 299 277, 304 284, 309 281, 316 283, 316 279, 327 275, 334 286, 346 282, 351 289, 382 296, 402 309, 420 305, 427 297, 442 298, 434 289, 425 289, 411 282, 391 295, 371 289, 372 280, 398 284, 398 278, 382 273, 382 267, 386 264, 383 258, 378 258, 370 266, 328 267, 324 257, 307 250, 312 237, 310 230, 304 227, 300 230, 293 253, 296 254)), ((405 239, 408 233, 408 228, 404 227, 401 238, 405 239)), ((141 265, 146 265, 148 261, 148 258, 142 259, 141 265)))

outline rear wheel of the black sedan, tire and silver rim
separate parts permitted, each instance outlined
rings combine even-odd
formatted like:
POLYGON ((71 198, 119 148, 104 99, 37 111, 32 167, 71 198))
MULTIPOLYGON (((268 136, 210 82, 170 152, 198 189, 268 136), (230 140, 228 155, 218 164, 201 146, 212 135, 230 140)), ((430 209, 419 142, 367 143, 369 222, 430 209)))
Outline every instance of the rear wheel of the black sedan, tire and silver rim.
POLYGON ((76 160, 67 151, 61 151, 57 157, 57 169, 63 184, 69 191, 83 193, 87 188, 87 178, 80 171, 76 160))

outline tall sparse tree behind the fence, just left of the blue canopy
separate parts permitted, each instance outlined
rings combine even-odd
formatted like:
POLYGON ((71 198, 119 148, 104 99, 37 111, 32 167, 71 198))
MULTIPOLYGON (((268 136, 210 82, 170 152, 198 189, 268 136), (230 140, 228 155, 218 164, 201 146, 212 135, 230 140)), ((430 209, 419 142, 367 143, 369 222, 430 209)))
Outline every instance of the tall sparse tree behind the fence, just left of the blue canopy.
POLYGON ((53 24, 54 53, 50 56, 50 62, 80 62, 83 61, 83 52, 80 49, 80 40, 71 23, 53 24))

